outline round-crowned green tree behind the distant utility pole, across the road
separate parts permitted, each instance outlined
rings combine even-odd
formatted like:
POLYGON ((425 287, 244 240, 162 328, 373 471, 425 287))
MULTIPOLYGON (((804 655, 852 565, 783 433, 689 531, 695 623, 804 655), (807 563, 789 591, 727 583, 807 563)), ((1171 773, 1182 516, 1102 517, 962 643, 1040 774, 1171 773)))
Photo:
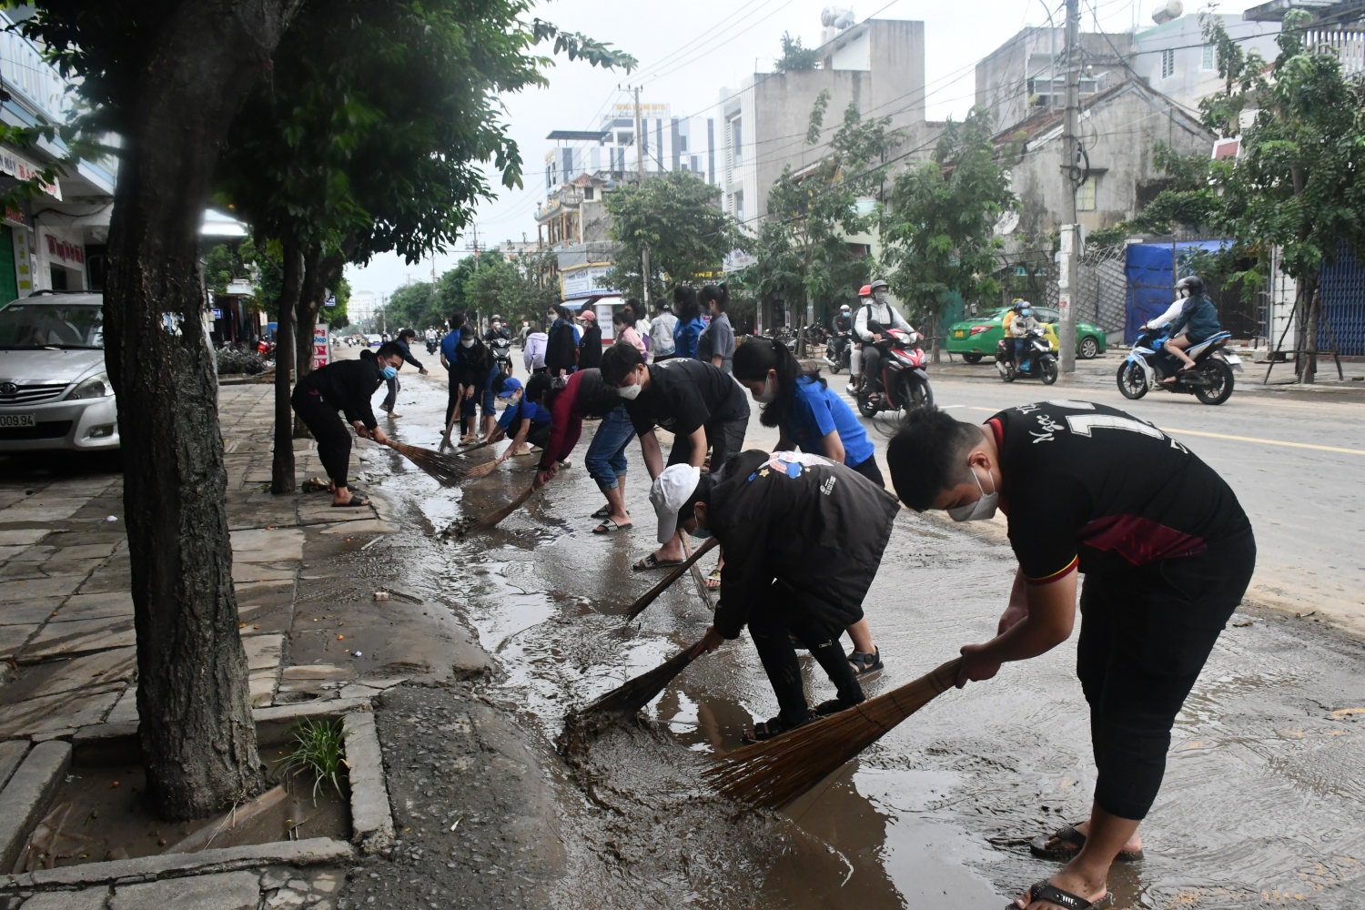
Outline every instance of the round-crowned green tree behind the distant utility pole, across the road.
POLYGON ((721 188, 689 171, 628 184, 603 196, 612 214, 607 236, 617 244, 602 287, 642 297, 640 252, 650 251, 650 296, 667 285, 691 284, 721 270, 738 235, 734 220, 721 211, 721 188))

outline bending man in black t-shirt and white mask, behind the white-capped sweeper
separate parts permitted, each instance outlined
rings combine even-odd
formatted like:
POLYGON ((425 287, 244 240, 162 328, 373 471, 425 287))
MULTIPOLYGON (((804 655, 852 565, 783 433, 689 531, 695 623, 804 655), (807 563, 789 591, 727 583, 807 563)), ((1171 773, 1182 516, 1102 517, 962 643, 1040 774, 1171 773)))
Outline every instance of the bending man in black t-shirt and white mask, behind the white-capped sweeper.
MULTIPOLYGON (((617 342, 602 355, 602 379, 620 389, 625 412, 640 437, 640 452, 650 478, 663 471, 663 454, 654 427, 673 434, 669 464, 700 468, 711 450, 711 467, 719 469, 728 453, 744 445, 749 402, 744 389, 728 374, 700 360, 674 357, 646 364, 640 351, 617 342)), ((665 546, 635 565, 658 569, 682 561, 682 540, 674 535, 665 546)))

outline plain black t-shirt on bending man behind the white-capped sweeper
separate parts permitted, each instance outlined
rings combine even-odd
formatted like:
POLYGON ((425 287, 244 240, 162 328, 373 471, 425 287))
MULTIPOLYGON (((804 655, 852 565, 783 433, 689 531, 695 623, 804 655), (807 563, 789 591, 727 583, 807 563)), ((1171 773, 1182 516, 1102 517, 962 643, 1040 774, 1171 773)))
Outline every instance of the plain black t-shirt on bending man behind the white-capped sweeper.
POLYGON ((676 357, 650 364, 648 370, 650 387, 625 402, 636 432, 658 426, 685 437, 707 423, 749 419, 744 389, 710 363, 676 357))

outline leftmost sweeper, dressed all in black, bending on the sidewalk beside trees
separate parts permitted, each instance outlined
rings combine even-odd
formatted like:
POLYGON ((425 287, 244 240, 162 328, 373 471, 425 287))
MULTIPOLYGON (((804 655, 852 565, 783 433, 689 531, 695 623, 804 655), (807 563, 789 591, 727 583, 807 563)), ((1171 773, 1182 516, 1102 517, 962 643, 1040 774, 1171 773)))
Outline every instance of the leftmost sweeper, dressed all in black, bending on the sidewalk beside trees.
POLYGON ((370 505, 348 487, 351 431, 337 412, 345 413, 358 435, 385 445, 389 439, 374 419, 370 398, 385 379, 399 375, 403 360, 403 348, 396 341, 386 341, 377 352, 362 351, 359 360, 336 360, 318 367, 293 386, 289 404, 318 443, 318 457, 332 478, 332 505, 336 508, 370 505))

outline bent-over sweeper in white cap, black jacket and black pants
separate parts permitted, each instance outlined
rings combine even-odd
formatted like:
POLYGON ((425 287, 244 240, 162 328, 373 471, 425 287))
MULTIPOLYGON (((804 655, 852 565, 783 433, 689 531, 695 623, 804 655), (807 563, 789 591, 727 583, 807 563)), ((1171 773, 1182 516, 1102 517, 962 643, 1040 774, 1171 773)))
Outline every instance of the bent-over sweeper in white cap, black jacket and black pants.
POLYGON ((814 719, 793 637, 838 693, 816 714, 864 700, 839 636, 863 618, 900 510, 895 497, 823 456, 749 450, 708 473, 689 464, 665 468, 650 502, 661 543, 702 528, 725 547, 721 602, 700 647, 714 651, 749 628, 778 703, 775 718, 753 724, 751 741, 814 719))

